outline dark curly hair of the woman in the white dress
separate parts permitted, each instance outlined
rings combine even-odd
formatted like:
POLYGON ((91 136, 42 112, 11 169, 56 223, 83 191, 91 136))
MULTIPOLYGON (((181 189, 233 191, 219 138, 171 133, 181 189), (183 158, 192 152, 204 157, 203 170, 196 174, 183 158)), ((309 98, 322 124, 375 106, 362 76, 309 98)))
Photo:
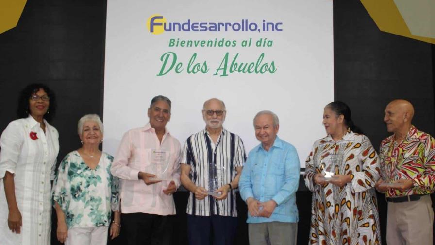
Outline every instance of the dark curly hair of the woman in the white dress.
POLYGON ((44 115, 44 119, 50 121, 56 113, 56 95, 47 85, 34 83, 29 84, 21 90, 18 98, 17 116, 18 118, 26 118, 29 116, 29 98, 33 94, 37 93, 39 89, 44 89, 47 95, 50 97, 50 106, 47 113, 44 115))

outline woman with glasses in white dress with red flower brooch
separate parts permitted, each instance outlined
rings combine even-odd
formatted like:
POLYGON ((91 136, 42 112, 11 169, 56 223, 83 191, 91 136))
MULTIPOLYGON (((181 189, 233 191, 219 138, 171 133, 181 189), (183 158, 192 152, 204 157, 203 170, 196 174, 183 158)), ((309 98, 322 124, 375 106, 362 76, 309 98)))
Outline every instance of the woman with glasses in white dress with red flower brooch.
POLYGON ((0 239, 2 245, 48 245, 51 184, 59 134, 47 120, 55 111, 54 93, 45 85, 23 89, 18 117, 0 138, 0 239))

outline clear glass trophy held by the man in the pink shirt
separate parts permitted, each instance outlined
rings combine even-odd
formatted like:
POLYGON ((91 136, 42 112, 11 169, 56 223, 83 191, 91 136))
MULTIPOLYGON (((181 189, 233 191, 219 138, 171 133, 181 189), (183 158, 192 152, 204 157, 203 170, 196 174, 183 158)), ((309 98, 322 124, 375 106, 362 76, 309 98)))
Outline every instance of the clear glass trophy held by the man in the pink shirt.
POLYGON ((145 167, 145 172, 155 175, 148 178, 151 181, 170 181, 169 173, 170 153, 168 151, 151 150, 151 165, 145 167))

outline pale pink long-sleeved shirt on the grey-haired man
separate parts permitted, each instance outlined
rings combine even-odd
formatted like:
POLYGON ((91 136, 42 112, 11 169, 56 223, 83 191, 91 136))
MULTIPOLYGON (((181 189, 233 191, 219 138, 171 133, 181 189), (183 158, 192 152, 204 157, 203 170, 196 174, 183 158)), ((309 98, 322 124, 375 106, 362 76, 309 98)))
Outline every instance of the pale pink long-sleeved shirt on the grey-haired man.
POLYGON ((163 193, 169 181, 146 185, 138 179, 138 173, 150 173, 153 151, 165 152, 169 159, 167 176, 177 188, 180 186, 180 142, 165 128, 160 143, 154 128, 148 123, 145 127, 131 129, 124 134, 119 145, 111 172, 121 179, 120 203, 122 213, 150 213, 158 215, 175 214, 172 195, 163 193))

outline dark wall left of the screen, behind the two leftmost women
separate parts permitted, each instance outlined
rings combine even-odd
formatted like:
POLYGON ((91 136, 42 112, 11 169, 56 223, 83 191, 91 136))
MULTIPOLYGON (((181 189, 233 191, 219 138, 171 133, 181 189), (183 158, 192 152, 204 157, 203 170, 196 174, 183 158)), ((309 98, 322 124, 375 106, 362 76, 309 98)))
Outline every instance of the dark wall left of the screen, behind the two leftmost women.
POLYGON ((77 121, 102 116, 106 1, 29 0, 16 28, 0 34, 0 128, 16 119, 26 85, 52 88, 58 111, 51 122, 60 135, 60 161, 80 146, 77 121))

